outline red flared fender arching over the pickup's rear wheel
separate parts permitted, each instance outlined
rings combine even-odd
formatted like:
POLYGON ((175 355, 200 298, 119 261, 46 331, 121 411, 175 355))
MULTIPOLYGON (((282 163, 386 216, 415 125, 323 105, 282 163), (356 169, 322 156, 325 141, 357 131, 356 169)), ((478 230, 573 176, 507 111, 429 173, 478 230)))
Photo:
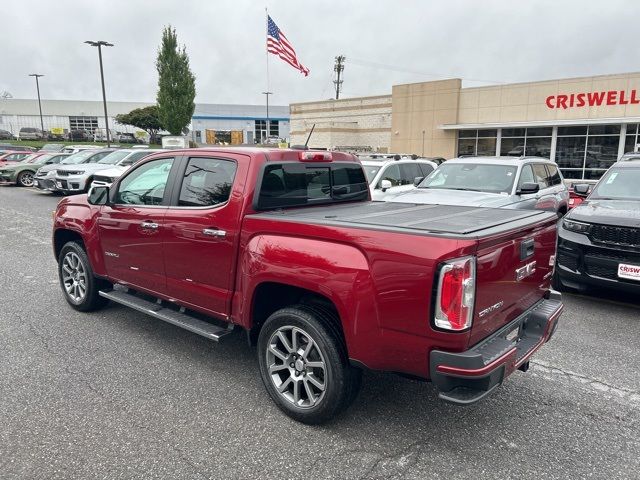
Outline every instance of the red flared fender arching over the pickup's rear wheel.
POLYGON ((253 299, 263 283, 289 285, 322 295, 336 307, 349 357, 375 345, 377 305, 369 263, 349 245, 280 235, 257 235, 244 250, 239 268, 238 321, 253 325, 253 299), (357 333, 357 335, 356 335, 357 333))

